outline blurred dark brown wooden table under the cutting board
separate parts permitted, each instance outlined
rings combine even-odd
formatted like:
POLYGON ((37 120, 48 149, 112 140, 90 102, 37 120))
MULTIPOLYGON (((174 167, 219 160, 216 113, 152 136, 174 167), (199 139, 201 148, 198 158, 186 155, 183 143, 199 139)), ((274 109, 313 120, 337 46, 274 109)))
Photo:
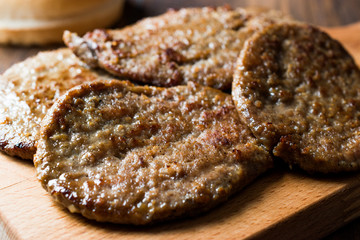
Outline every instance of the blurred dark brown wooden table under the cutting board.
MULTIPOLYGON (((128 0, 124 16, 117 26, 133 23, 142 17, 161 14, 168 8, 224 4, 229 4, 232 7, 265 6, 288 13, 297 20, 327 27, 342 26, 360 21, 359 0, 128 0)), ((360 32, 354 32, 354 34, 358 34, 360 39, 360 32)), ((0 72, 38 51, 57 47, 59 46, 2 46, 0 47, 0 72)), ((360 218, 325 239, 360 239, 360 218)))

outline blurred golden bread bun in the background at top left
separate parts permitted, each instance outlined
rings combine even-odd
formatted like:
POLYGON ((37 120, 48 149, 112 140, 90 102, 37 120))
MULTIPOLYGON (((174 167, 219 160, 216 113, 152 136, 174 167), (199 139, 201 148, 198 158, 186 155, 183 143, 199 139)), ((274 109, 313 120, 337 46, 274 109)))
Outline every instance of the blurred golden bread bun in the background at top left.
POLYGON ((61 42, 63 31, 84 34, 109 27, 124 0, 0 0, 0 43, 42 45, 61 42))

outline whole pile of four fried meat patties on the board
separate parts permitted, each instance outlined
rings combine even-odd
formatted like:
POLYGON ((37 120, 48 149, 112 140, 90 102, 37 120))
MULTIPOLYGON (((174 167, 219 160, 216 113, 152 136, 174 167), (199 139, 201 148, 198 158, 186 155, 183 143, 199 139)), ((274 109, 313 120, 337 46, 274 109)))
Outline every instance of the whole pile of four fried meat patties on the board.
POLYGON ((193 8, 64 40, 82 61, 60 49, 1 77, 0 147, 36 152, 43 187, 71 212, 130 224, 195 215, 273 155, 309 172, 359 168, 359 69, 313 27, 193 8))

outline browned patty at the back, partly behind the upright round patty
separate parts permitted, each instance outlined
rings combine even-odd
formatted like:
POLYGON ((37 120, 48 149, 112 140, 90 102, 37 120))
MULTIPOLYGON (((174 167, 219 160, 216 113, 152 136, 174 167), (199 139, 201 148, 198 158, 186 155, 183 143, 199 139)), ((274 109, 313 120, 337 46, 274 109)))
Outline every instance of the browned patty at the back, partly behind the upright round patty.
POLYGON ((284 19, 275 11, 184 8, 82 38, 65 32, 64 41, 90 66, 126 80, 164 87, 194 81, 230 90, 245 40, 284 19))

